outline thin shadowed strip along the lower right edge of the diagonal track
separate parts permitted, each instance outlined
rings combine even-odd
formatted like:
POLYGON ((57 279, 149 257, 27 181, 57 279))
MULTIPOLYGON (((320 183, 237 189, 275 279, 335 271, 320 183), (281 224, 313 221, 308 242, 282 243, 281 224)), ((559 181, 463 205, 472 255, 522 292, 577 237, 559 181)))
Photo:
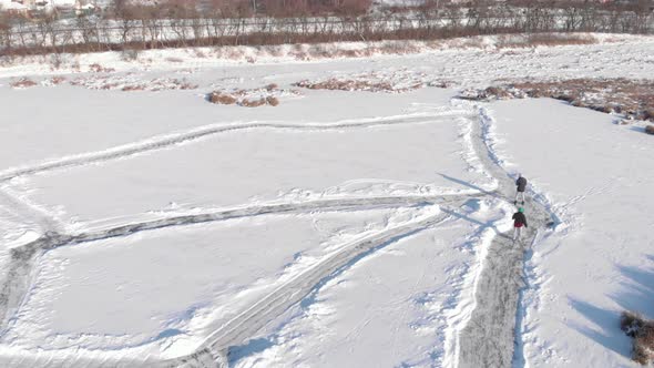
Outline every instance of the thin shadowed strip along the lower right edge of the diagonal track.
MULTIPOLYGON (((352 268, 357 263, 359 263, 361 259, 372 255, 374 253, 386 248, 387 246, 395 244, 401 239, 411 237, 422 231, 425 231, 426 228, 430 228, 433 227, 436 225, 442 224, 443 222, 448 221, 448 218, 450 218, 450 216, 447 216, 444 218, 441 218, 439 221, 437 221, 433 224, 428 224, 426 226, 422 227, 418 227, 418 228, 413 228, 407 233, 403 234, 399 234, 397 236, 394 236, 389 239, 387 239, 386 242, 379 244, 376 247, 372 247, 359 255, 357 255, 356 257, 354 257, 352 259, 348 260, 345 265, 343 265, 339 268, 336 268, 333 273, 330 273, 329 275, 323 277, 320 279, 320 282, 318 282, 313 288, 302 299, 302 301, 299 303, 299 313, 297 314, 297 316, 302 315, 302 311, 308 309, 311 305, 316 304, 317 301, 317 296, 318 293, 323 289, 323 287, 329 283, 330 280, 335 279, 336 277, 340 276, 341 274, 344 274, 346 270, 352 268)), ((293 306, 290 306, 288 309, 293 308, 293 306)), ((287 321, 283 323, 282 325, 279 325, 276 329, 277 330, 282 330, 284 328, 284 326, 286 326, 288 323, 290 323, 290 320, 295 319, 295 317, 293 318, 288 318, 287 321)), ((247 357, 248 355, 255 354, 255 352, 259 352, 265 350, 266 348, 268 348, 269 346, 272 346, 273 344, 270 341, 273 341, 275 339, 275 336, 277 334, 269 334, 268 338, 259 338, 257 339, 257 343, 253 343, 253 340, 248 340, 246 341, 246 344, 239 345, 239 346, 233 346, 228 348, 228 352, 227 352, 227 361, 228 361, 228 367, 233 367, 238 360, 247 357), (266 346, 267 344, 270 344, 269 346, 266 346), (259 349, 260 348, 260 349, 259 349)))

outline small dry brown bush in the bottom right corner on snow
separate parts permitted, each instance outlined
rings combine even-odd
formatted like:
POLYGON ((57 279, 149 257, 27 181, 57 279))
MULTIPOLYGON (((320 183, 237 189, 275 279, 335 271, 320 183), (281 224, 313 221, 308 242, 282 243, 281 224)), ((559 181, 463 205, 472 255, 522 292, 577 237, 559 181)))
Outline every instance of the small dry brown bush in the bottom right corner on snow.
POLYGON ((654 321, 641 315, 623 311, 620 328, 633 340, 632 359, 641 365, 654 362, 654 321))

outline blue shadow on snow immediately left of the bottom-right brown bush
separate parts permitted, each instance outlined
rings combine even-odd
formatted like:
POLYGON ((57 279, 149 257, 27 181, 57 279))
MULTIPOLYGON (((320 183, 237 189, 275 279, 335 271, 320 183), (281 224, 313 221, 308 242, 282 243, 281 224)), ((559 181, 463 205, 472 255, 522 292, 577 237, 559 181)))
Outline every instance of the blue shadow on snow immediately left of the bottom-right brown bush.
POLYGON ((582 314, 587 320, 595 324, 594 328, 572 324, 571 327, 580 334, 600 344, 609 350, 613 350, 625 358, 630 358, 630 338, 620 330, 620 311, 603 309, 587 301, 569 297, 570 305, 582 314))

